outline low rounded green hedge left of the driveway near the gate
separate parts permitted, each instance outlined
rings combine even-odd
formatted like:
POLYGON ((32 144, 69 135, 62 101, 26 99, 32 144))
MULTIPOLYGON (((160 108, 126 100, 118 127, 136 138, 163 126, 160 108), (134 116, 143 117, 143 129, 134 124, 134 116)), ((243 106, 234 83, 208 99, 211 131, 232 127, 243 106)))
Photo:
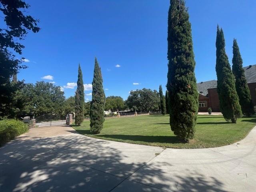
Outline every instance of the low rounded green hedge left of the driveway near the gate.
POLYGON ((0 121, 0 146, 28 131, 28 125, 22 121, 8 119, 0 121))

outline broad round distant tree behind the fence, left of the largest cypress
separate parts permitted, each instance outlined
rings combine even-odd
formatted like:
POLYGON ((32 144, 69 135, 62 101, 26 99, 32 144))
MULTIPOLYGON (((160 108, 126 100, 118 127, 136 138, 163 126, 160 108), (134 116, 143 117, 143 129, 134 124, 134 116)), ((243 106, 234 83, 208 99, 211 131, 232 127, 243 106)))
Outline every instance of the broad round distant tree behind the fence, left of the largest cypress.
POLYGON ((160 110, 160 97, 156 90, 143 88, 132 90, 126 100, 126 105, 133 111, 158 111, 160 110))

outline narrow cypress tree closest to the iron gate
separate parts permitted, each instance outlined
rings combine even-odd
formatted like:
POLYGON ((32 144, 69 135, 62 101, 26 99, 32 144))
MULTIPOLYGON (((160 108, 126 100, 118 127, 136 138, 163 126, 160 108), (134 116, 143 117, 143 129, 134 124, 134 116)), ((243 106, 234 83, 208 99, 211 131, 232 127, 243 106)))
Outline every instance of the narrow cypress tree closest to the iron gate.
POLYGON ((78 65, 78 79, 75 99, 75 124, 80 125, 84 121, 84 82, 80 64, 78 65))

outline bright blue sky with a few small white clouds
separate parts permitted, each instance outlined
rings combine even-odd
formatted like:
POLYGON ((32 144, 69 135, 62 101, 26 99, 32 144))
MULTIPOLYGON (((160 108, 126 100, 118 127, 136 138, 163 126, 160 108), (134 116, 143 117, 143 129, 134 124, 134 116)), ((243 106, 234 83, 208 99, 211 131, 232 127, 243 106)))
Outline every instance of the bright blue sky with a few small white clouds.
MULTIPOLYGON (((31 6, 28 13, 40 19, 42 30, 29 33, 22 42, 29 68, 20 71, 20 80, 35 83, 48 76, 46 82, 55 82, 64 88, 66 97, 73 96, 80 63, 86 99, 91 100, 96 56, 106 96, 126 99, 130 90, 158 90, 159 84, 165 89, 169 0, 26 2, 31 6)), ((216 79, 217 24, 224 30, 230 63, 233 38, 237 38, 244 66, 256 64, 255 0, 186 0, 186 6, 197 82, 216 79)))

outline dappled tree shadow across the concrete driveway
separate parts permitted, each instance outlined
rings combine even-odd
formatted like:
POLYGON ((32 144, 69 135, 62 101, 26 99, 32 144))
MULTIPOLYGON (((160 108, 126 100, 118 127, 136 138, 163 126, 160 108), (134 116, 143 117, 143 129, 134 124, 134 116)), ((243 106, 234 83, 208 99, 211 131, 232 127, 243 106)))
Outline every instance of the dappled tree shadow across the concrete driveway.
MULTIPOLYGON (((0 191, 123 192, 134 191, 133 188, 139 188, 138 191, 158 191, 173 187, 175 178, 173 182, 167 181, 165 172, 159 166, 147 166, 146 172, 139 170, 147 163, 145 159, 139 160, 141 156, 144 157, 143 152, 152 148, 154 154, 157 148, 132 144, 129 144, 130 148, 125 146, 113 146, 110 141, 78 134, 13 140, 0 148, 0 191), (134 172, 136 178, 129 180, 134 172), (158 181, 153 180, 154 177, 158 181), (147 182, 139 182, 137 178, 147 182), (126 182, 129 188, 121 189, 126 182)), ((172 164, 165 162, 160 166, 172 164)), ((222 191, 220 181, 216 179, 209 184, 204 177, 196 179, 188 174, 186 178, 177 179, 184 189, 190 186, 190 190, 202 191, 204 186, 206 192, 222 191)))

